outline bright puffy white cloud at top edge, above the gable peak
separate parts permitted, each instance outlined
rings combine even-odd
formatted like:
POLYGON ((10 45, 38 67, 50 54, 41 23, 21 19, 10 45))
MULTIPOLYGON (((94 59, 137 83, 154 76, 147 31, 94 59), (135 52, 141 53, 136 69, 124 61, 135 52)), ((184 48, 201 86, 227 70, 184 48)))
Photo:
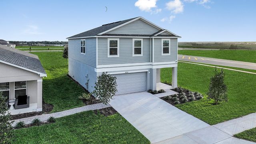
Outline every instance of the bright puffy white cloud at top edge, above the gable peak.
POLYGON ((138 0, 134 5, 142 11, 150 12, 151 8, 156 8, 156 1, 157 0, 138 0))

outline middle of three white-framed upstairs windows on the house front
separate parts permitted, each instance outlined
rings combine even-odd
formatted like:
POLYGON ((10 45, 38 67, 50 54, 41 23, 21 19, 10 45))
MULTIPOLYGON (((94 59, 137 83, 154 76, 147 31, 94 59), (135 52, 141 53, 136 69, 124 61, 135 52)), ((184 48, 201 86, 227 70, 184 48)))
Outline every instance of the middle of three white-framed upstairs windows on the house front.
POLYGON ((132 39, 132 56, 143 56, 143 38, 132 39))

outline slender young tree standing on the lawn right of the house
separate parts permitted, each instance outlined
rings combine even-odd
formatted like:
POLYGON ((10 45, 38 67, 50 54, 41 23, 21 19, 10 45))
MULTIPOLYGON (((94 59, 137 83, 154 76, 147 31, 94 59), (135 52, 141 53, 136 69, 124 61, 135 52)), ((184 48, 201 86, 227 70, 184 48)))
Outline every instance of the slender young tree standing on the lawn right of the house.
POLYGON ((214 104, 220 101, 228 101, 227 86, 224 83, 224 71, 218 72, 215 68, 215 75, 210 78, 208 98, 214 100, 214 104))

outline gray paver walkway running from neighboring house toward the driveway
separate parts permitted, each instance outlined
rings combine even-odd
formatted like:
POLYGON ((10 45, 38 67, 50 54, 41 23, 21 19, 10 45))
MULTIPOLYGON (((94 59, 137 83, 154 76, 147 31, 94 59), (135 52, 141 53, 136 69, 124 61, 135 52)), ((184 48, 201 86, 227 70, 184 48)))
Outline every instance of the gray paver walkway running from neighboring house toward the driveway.
POLYGON ((79 113, 79 112, 84 112, 84 111, 88 111, 88 110, 98 110, 98 109, 107 108, 107 107, 110 107, 110 105, 109 104, 105 105, 103 103, 91 104, 91 105, 88 105, 88 106, 82 106, 82 107, 79 107, 79 108, 73 108, 73 109, 70 109, 70 110, 64 110, 64 111, 55 112, 55 113, 52 113, 52 114, 42 114, 42 115, 32 116, 32 117, 28 117, 28 118, 21 118, 21 119, 18 119, 18 120, 14 120, 14 123, 12 124, 12 126, 15 126, 15 124, 17 122, 21 122, 21 121, 25 122, 25 124, 31 124, 32 120, 34 120, 35 118, 38 118, 41 121, 45 121, 48 118, 50 118, 51 116, 53 116, 54 118, 60 118, 60 117, 63 117, 63 116, 69 116, 69 115, 76 114, 76 113, 79 113))

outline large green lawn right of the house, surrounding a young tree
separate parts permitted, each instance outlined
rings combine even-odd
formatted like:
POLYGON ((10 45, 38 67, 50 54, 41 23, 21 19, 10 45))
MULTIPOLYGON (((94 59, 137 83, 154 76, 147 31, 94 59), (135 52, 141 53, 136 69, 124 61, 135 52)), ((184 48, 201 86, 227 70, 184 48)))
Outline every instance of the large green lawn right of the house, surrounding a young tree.
MULTIPOLYGON (((212 105, 206 98, 177 105, 181 110, 207 122, 217 124, 256 112, 256 75, 224 70, 228 102, 212 105)), ((171 68, 161 69, 161 81, 171 83, 171 68)), ((206 94, 214 68, 178 63, 178 85, 206 94)))

